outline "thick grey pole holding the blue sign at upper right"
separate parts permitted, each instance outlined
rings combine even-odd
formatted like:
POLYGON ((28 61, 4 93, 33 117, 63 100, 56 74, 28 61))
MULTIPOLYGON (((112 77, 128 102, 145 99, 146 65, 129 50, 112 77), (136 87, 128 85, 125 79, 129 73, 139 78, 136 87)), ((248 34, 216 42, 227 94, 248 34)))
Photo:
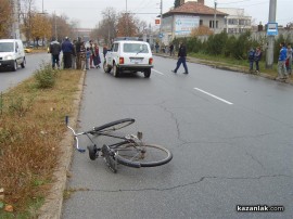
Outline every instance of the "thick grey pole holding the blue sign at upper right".
MULTIPOLYGON (((276 11, 277 11, 277 0, 270 0, 268 23, 270 22, 276 23, 276 11)), ((268 25, 267 25, 267 28, 268 28, 268 25)), ((268 48, 267 48, 267 59, 266 59, 267 69, 272 69, 273 46, 275 46, 275 36, 268 36, 268 48)))

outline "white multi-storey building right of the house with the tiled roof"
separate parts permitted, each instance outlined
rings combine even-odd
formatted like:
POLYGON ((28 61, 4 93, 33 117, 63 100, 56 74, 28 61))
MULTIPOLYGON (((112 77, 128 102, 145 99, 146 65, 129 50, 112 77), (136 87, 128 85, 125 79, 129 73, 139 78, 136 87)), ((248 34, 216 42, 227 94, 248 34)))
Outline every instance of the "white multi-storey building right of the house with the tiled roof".
POLYGON ((246 15, 244 9, 217 9, 229 14, 225 17, 224 30, 229 34, 244 33, 252 29, 252 17, 246 15))

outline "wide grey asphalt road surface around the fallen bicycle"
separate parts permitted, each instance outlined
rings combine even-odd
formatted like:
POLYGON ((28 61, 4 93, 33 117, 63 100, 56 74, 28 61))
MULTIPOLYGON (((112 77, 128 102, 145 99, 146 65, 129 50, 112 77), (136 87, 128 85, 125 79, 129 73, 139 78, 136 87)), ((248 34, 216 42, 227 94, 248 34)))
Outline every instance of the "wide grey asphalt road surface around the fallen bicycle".
POLYGON ((102 158, 75 152, 63 219, 292 218, 293 87, 191 63, 189 75, 174 74, 175 64, 154 57, 150 79, 87 73, 79 130, 132 117, 125 131, 142 131, 174 159, 113 173, 102 158))

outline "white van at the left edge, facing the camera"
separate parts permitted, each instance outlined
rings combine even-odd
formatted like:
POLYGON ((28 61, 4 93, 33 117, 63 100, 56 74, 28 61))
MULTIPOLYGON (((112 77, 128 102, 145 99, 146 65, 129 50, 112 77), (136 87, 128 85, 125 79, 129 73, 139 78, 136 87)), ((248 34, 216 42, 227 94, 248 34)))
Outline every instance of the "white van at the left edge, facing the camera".
POLYGON ((21 65, 25 67, 25 51, 20 39, 0 39, 0 68, 9 67, 13 72, 21 65))

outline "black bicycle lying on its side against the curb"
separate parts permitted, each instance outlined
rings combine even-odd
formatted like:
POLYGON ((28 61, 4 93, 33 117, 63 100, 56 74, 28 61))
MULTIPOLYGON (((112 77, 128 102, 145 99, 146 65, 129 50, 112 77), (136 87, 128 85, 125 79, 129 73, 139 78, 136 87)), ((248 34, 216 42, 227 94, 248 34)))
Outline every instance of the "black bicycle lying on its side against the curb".
POLYGON ((79 147, 78 137, 87 136, 91 142, 91 144, 87 146, 89 158, 94 160, 98 157, 103 157, 113 172, 117 172, 118 164, 140 168, 156 167, 169 163, 173 158, 171 152, 161 145, 144 143, 142 141, 142 132, 126 136, 115 133, 116 130, 133 123, 133 118, 125 118, 103 126, 93 127, 88 131, 76 132, 68 126, 68 117, 66 116, 66 126, 74 134, 76 150, 81 153, 86 152, 85 149, 79 147), (103 144, 99 147, 94 139, 101 136, 114 138, 118 141, 110 145, 103 144))

